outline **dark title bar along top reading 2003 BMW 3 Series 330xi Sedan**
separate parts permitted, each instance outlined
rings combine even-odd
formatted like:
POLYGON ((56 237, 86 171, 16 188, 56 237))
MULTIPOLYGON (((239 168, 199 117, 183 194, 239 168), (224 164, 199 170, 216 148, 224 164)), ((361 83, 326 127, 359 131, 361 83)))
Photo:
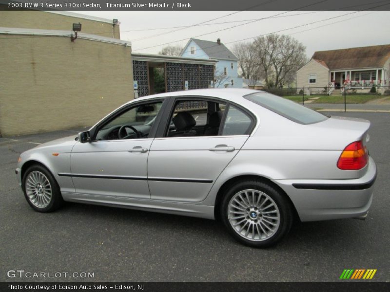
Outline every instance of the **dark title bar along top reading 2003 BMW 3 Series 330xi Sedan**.
POLYGON ((67 11, 390 10, 389 0, 0 0, 0 10, 67 11), (349 5, 347 5, 349 4, 349 5), (347 7, 346 7, 347 6, 347 7))

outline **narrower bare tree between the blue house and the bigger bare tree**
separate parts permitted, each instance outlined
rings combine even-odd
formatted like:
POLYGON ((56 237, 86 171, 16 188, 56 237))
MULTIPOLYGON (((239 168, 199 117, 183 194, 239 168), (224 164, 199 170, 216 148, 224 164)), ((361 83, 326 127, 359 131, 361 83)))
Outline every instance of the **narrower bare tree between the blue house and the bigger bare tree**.
POLYGON ((257 80, 265 78, 265 73, 260 67, 254 43, 235 43, 233 53, 238 59, 238 67, 242 77, 248 79, 248 85, 254 86, 257 80))

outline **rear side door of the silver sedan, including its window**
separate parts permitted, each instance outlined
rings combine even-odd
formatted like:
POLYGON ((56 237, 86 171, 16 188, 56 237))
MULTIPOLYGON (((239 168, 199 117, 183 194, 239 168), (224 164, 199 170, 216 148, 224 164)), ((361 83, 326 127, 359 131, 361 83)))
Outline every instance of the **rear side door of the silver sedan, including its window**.
MULTIPOLYGON (((193 122, 188 120, 189 124, 193 122)), ((219 174, 248 139, 254 123, 254 117, 248 112, 222 100, 176 98, 166 125, 162 124, 159 129, 161 137, 150 147, 148 182, 151 198, 203 201, 219 174), (190 102, 192 106, 188 107, 190 102), (222 112, 219 125, 211 119, 217 115, 216 111, 222 112), (174 117, 180 112, 186 112, 187 116, 187 113, 191 114, 195 125, 185 130, 177 129, 174 117), (218 127, 213 129, 215 126, 218 127), (216 130, 215 134, 210 135, 213 130, 216 130)))

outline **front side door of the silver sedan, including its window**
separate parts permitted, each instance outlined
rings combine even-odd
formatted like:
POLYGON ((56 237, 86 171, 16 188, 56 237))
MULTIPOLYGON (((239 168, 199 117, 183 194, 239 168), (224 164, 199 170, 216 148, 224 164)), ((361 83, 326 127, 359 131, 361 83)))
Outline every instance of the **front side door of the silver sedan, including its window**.
POLYGON ((147 160, 162 101, 138 104, 100 126, 91 143, 77 143, 71 154, 76 193, 150 199, 147 160))

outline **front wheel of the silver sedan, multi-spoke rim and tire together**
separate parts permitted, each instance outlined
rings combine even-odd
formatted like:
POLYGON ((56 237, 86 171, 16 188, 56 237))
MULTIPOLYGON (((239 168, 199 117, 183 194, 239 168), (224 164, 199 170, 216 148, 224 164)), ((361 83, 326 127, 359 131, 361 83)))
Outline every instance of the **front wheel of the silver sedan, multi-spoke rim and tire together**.
POLYGON ((63 204, 59 185, 53 175, 42 165, 30 166, 23 175, 24 197, 38 212, 52 212, 63 204))

